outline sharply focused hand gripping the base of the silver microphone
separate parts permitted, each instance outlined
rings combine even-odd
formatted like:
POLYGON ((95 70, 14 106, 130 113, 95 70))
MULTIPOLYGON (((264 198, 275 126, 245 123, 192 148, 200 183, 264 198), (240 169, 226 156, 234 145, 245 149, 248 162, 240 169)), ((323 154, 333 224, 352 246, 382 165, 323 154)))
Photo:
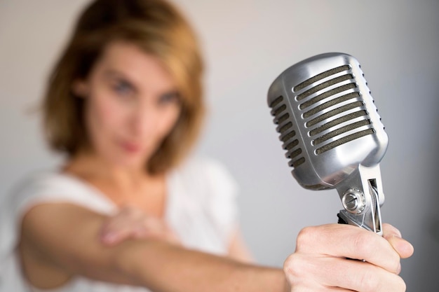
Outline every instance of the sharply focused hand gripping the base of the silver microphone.
POLYGON ((403 292, 400 258, 412 253, 412 245, 389 224, 383 224, 382 237, 353 225, 327 224, 299 232, 284 271, 291 292, 403 292))

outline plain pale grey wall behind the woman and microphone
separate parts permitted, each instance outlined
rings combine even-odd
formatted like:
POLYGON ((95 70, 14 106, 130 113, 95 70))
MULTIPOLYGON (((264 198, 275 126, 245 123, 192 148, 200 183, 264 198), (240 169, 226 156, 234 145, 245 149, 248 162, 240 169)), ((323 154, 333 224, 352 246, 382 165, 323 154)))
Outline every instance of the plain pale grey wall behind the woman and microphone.
MULTIPOLYGON (((85 0, 0 0, 0 200, 22 176, 62 162, 35 112, 48 71, 85 0)), ((299 187, 266 106, 290 65, 343 52, 362 64, 389 134, 383 220, 412 242, 407 291, 439 284, 439 1, 174 0, 201 39, 209 116, 197 155, 241 187, 243 233, 259 263, 281 267, 306 225, 337 221, 336 190, 299 187)), ((1 240, 1 239, 0 239, 1 240)))

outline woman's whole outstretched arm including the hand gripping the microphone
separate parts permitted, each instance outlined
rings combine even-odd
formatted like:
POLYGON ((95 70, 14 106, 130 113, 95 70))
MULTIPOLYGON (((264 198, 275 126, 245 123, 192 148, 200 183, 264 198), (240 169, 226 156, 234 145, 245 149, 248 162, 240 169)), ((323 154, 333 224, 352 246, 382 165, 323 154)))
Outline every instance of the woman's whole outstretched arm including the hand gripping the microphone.
POLYGON ((285 261, 287 284, 281 270, 187 250, 160 239, 127 239, 103 246, 98 237, 104 219, 72 204, 31 209, 23 221, 20 244, 31 283, 53 287, 50 279, 62 279, 58 272, 158 292, 402 292, 400 258, 413 252, 391 225, 384 225, 384 237, 351 225, 304 228, 295 253, 285 261), (44 268, 32 269, 36 264, 44 268), (51 272, 50 277, 41 277, 45 271, 51 272))

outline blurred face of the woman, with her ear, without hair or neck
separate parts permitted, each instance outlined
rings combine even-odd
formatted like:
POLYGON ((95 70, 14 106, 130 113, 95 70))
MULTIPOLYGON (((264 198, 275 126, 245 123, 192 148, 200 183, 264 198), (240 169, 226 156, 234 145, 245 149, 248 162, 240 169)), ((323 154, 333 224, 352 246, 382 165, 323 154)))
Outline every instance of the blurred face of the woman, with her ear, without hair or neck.
POLYGON ((94 153, 115 165, 144 167, 180 114, 170 73, 130 43, 110 43, 85 81, 86 130, 94 153))

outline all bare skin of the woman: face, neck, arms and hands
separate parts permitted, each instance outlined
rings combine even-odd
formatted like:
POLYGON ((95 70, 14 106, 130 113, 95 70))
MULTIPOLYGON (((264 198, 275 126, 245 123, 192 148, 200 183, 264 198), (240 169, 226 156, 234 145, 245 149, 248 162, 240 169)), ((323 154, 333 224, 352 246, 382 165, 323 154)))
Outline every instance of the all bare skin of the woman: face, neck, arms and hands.
MULTIPOLYGON (((143 167, 180 113, 173 78, 136 46, 112 43, 72 87, 86 99, 91 147, 63 171, 101 190, 121 212, 110 218, 61 203, 27 211, 19 252, 29 283, 55 288, 82 275, 164 292, 405 291, 400 258, 413 249, 391 225, 384 237, 350 225, 304 228, 284 270, 185 249, 161 220, 164 174, 143 167)), ((230 256, 248 259, 238 230, 230 256)))

